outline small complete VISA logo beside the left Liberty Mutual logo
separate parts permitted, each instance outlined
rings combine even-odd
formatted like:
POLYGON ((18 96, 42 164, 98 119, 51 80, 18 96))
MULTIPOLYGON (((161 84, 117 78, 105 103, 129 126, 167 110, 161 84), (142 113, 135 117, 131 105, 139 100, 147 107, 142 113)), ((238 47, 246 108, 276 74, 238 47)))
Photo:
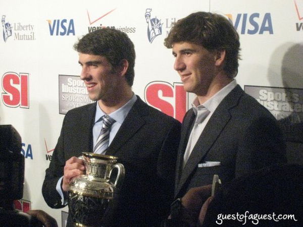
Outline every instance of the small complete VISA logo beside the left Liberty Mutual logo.
POLYGON ((75 35, 75 26, 74 26, 74 20, 70 19, 69 21, 67 19, 62 20, 46 20, 48 22, 49 27, 49 34, 50 35, 75 35))

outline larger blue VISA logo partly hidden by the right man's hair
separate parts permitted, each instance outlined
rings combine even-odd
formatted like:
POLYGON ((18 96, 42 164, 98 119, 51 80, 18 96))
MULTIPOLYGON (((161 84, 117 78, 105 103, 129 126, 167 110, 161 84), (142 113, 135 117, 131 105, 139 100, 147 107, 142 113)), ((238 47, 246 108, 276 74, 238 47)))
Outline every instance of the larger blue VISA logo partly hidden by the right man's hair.
POLYGON ((274 34, 270 13, 237 14, 235 20, 231 14, 226 14, 226 16, 241 34, 274 34))

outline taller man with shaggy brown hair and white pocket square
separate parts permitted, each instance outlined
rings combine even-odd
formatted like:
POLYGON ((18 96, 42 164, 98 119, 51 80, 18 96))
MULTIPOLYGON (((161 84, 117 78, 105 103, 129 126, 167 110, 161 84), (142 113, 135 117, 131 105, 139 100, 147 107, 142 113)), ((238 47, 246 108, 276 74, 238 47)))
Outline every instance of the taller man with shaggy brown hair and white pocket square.
MULTIPOLYGON (((196 94, 182 123, 175 198, 193 187, 222 183, 254 169, 285 162, 285 146, 275 118, 244 93, 234 77, 240 42, 223 16, 197 12, 179 20, 165 39, 185 91, 196 94)), ((181 200, 171 207, 181 217, 181 200)))

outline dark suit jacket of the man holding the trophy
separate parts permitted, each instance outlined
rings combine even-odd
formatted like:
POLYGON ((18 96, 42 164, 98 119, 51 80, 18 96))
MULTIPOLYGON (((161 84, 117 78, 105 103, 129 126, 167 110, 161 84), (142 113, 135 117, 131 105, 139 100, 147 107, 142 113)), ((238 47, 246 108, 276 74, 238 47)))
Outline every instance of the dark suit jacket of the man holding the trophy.
MULTIPOLYGON (((110 144, 107 155, 119 157, 125 180, 111 226, 154 226, 169 213, 181 124, 139 97, 110 144)), ((92 152, 96 103, 67 112, 42 186, 52 208, 62 208, 56 184, 66 160, 92 152)), ((65 195, 67 196, 67 195, 65 195)))

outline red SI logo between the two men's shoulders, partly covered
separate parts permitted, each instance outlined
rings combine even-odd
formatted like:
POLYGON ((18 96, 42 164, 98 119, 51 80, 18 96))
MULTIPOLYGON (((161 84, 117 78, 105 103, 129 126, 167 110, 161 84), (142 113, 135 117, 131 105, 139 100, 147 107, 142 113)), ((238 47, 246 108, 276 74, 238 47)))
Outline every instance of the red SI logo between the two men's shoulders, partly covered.
POLYGON ((187 94, 182 83, 153 81, 146 85, 144 90, 145 102, 161 110, 167 115, 183 121, 187 110, 187 94))

